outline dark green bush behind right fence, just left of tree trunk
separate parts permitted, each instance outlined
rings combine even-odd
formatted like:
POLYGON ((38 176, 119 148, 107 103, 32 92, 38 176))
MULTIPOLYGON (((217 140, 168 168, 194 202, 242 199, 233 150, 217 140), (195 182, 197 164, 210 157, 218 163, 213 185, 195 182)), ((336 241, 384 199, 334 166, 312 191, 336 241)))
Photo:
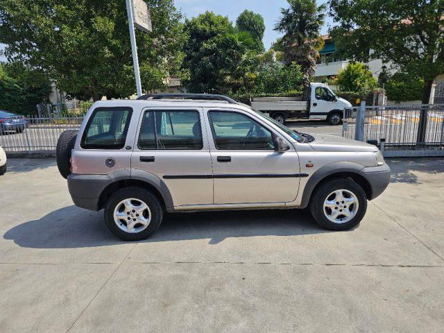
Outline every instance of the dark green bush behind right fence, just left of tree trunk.
POLYGON ((386 83, 387 98, 397 103, 421 101, 424 80, 407 73, 396 73, 386 83))

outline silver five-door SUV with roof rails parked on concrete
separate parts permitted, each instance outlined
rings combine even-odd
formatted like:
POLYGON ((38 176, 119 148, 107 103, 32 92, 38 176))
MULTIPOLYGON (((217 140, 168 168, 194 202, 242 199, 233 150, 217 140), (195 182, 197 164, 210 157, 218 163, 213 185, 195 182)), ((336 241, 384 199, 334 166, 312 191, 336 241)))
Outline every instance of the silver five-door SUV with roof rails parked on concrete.
POLYGON ((58 142, 72 200, 104 209, 121 239, 200 210, 309 207, 323 228, 348 230, 388 185, 375 146, 298 133, 225 96, 161 97, 96 102, 58 142))

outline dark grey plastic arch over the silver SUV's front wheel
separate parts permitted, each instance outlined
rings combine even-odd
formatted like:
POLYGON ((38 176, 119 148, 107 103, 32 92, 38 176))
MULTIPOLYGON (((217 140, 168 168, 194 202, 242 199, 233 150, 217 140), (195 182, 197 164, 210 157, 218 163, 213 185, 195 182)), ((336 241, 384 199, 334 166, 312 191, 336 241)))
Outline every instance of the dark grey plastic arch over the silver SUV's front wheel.
POLYGON ((302 193, 301 207, 307 207, 311 200, 311 196, 314 194, 318 187, 321 187, 325 182, 332 179, 346 178, 356 182, 364 192, 368 200, 372 198, 372 187, 370 182, 360 174, 360 171, 364 169, 361 164, 354 162, 336 162, 327 164, 321 169, 318 169, 309 178, 302 193))

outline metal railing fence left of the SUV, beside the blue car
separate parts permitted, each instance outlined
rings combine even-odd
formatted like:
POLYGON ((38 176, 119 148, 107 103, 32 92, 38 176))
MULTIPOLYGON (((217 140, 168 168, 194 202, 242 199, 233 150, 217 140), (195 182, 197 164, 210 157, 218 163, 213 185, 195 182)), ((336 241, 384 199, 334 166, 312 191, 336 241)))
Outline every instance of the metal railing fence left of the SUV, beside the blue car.
POLYGON ((1 130, 0 146, 7 153, 55 151, 58 137, 64 130, 78 129, 83 121, 79 117, 37 117, 26 119, 26 128, 1 130))

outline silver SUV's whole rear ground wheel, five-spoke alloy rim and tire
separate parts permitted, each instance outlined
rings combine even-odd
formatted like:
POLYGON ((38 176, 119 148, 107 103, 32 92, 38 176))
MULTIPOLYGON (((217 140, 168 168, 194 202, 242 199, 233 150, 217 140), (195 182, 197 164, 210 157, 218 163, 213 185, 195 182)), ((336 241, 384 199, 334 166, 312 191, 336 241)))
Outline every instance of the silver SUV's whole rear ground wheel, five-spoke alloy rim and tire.
POLYGON ((163 210, 159 200, 141 187, 115 192, 105 205, 105 223, 124 241, 141 241, 159 228, 163 210))

